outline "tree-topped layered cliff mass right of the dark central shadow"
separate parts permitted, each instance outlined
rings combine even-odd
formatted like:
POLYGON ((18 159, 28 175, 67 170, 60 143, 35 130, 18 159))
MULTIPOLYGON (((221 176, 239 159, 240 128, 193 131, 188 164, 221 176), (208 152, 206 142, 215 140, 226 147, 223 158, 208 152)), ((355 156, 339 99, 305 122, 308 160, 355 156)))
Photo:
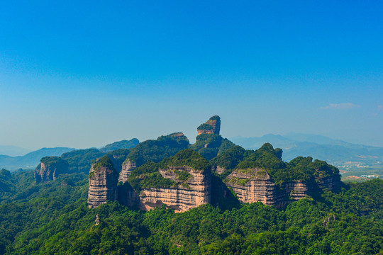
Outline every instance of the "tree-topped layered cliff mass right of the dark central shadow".
MULTIPOLYGON (((282 150, 273 149, 270 144, 254 152, 239 153, 239 156, 243 160, 237 159, 239 163, 235 169, 223 170, 223 173, 228 173, 224 181, 243 203, 260 201, 282 208, 305 196, 316 196, 323 188, 330 191, 340 188, 339 171, 334 166, 319 160, 312 162, 311 157, 282 162, 282 150)), ((231 159, 228 162, 235 162, 233 158, 228 159, 231 159)), ((215 162, 222 165, 224 161, 218 158, 215 162)))

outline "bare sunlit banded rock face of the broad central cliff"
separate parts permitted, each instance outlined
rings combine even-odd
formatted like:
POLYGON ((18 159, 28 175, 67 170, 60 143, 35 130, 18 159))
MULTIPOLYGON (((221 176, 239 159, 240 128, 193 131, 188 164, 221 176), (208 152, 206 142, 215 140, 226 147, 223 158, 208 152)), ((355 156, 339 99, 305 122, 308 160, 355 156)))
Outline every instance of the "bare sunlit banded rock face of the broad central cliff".
POLYGON ((160 169, 160 174, 167 179, 179 183, 174 188, 146 188, 140 192, 140 205, 143 210, 150 210, 162 204, 175 212, 184 212, 211 201, 211 173, 198 171, 189 166, 171 166, 160 169), (187 171, 190 174, 187 181, 178 179, 177 171, 187 171))

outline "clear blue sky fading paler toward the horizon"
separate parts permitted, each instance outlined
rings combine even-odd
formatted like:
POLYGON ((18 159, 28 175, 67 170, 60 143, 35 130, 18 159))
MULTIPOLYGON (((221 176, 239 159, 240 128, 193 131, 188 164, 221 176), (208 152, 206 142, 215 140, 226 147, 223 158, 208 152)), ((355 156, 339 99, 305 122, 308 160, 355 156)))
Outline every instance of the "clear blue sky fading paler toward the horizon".
POLYGON ((1 1, 0 145, 304 132, 383 146, 383 1, 1 1))

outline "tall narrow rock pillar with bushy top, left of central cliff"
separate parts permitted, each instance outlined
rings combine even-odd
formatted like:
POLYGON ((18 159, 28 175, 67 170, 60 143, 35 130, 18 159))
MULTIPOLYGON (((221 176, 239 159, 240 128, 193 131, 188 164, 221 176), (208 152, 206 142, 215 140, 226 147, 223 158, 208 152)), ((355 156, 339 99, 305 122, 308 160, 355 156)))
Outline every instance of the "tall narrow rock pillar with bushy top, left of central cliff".
POLYGON ((117 199, 118 173, 109 157, 104 156, 91 165, 89 173, 89 208, 117 199))

